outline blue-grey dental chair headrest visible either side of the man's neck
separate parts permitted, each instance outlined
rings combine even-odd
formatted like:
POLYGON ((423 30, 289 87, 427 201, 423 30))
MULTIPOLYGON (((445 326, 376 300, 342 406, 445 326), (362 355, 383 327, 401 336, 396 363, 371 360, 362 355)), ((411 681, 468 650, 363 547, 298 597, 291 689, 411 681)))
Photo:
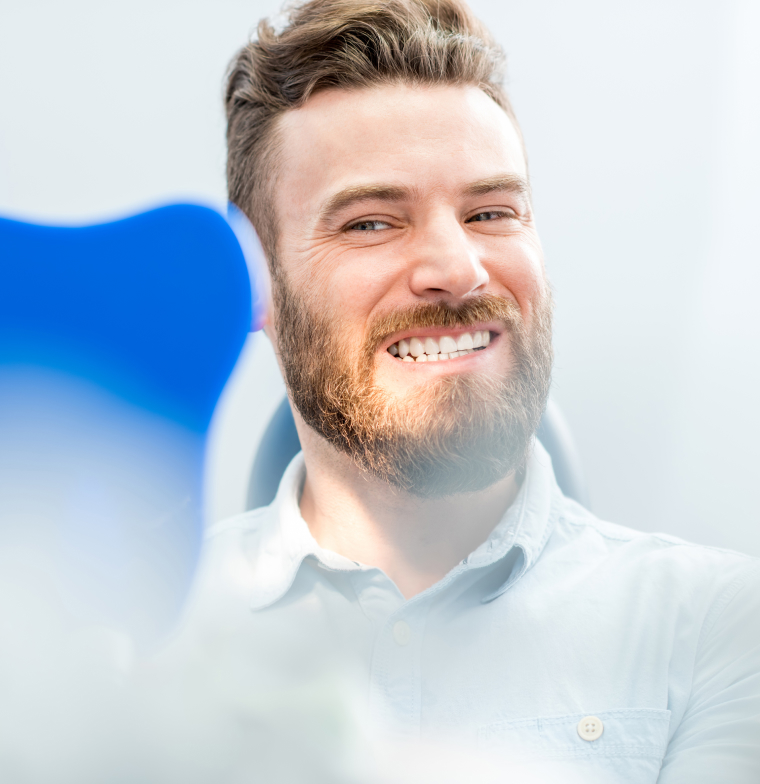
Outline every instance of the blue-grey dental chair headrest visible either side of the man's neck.
MULTIPOLYGON (((559 406, 552 400, 541 418, 537 436, 551 456, 557 484, 562 492, 588 507, 588 491, 578 450, 559 406)), ((288 463, 300 451, 301 442, 298 440, 293 412, 285 398, 269 421, 256 452, 248 482, 246 509, 257 509, 272 503, 288 463)))

